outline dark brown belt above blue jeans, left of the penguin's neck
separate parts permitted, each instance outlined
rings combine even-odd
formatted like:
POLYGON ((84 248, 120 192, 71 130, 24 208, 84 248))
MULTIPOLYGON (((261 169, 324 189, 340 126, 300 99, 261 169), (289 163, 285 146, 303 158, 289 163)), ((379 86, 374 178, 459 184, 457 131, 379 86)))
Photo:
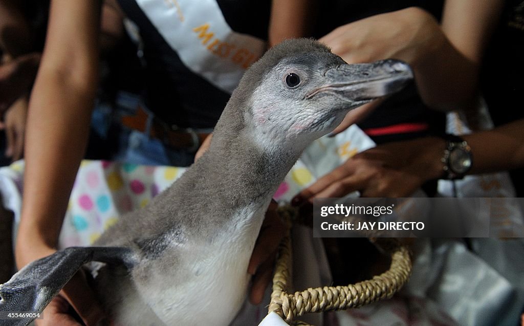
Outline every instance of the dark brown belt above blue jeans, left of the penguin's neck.
MULTIPOLYGON (((122 125, 147 133, 147 124, 150 114, 143 108, 138 107, 135 115, 125 115, 122 117, 122 125)), ((176 125, 168 125, 156 116, 152 117, 149 126, 149 136, 160 140, 163 144, 176 148, 186 149, 195 152, 210 133, 198 133, 192 128, 181 128, 176 125)))

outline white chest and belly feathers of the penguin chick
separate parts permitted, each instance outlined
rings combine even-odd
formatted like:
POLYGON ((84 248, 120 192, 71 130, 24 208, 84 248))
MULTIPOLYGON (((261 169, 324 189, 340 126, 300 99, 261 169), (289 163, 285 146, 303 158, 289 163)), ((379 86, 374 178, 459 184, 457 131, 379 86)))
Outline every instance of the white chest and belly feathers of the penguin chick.
POLYGON ((254 205, 239 209, 232 216, 235 222, 216 230, 213 238, 175 245, 161 258, 141 264, 131 282, 136 291, 113 309, 117 324, 228 325, 247 295, 247 265, 265 210, 254 205), (150 309, 140 307, 141 302, 150 309), (147 317, 151 313, 155 316, 147 317))

